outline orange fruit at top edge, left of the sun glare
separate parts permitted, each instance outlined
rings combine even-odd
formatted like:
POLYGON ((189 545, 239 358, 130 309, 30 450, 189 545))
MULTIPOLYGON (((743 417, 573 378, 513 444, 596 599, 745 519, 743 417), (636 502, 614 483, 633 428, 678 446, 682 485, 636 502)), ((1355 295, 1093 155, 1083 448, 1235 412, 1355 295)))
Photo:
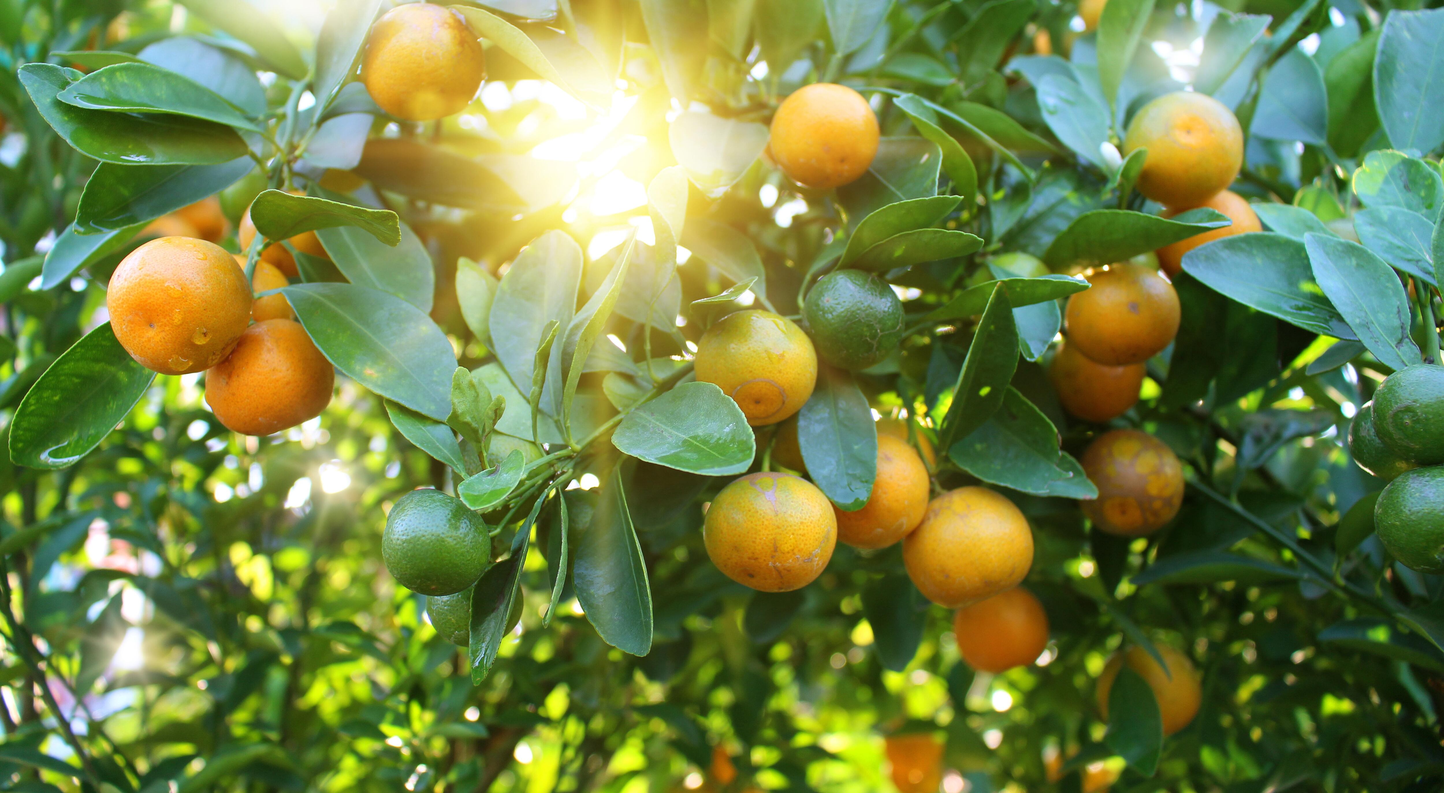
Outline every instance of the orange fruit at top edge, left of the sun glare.
POLYGON ((487 75, 481 42, 456 12, 410 3, 381 14, 361 56, 361 82, 381 110, 407 121, 461 113, 487 75))

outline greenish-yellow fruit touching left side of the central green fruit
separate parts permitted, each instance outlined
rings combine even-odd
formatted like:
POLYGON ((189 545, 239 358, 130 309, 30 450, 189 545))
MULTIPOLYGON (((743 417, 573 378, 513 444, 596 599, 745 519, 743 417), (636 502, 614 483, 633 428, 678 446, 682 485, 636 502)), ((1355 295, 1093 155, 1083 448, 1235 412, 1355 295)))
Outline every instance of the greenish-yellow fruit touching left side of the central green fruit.
POLYGON ((736 400, 747 423, 775 425, 801 410, 817 386, 812 339, 786 316, 768 311, 732 312, 697 341, 697 380, 736 400))

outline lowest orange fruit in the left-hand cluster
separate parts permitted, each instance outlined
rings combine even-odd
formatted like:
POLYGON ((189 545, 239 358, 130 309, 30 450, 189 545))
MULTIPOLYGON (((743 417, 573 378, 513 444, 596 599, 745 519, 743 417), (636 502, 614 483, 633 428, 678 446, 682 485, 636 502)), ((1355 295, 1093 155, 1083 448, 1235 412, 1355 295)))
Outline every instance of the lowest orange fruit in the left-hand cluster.
POLYGON ((336 374, 295 319, 267 319, 205 373, 205 403, 227 429, 271 435, 315 419, 331 403, 336 374))

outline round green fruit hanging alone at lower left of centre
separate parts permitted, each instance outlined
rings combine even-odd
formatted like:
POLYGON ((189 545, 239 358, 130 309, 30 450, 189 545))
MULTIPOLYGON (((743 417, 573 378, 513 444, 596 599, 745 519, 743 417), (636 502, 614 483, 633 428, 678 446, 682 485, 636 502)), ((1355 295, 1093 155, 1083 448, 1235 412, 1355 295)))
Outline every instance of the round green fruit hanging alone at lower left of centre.
POLYGON ((427 597, 453 595, 491 566, 491 537, 461 498, 439 490, 407 493, 386 517, 381 558, 401 586, 427 597))

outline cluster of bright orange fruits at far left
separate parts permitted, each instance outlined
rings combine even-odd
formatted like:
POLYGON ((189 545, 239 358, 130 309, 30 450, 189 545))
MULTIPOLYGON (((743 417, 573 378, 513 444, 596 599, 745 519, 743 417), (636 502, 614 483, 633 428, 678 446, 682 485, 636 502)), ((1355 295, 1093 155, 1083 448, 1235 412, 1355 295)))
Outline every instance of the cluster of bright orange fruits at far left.
MULTIPOLYGON (((243 222, 243 247, 247 228, 256 235, 243 222)), ((121 260, 105 308, 131 358, 160 374, 205 371, 205 402, 227 429, 270 435, 319 416, 335 373, 284 296, 253 296, 286 286, 287 273, 257 261, 245 283, 245 259, 217 244, 227 230, 214 198, 159 218, 146 231, 163 235, 121 260)))

